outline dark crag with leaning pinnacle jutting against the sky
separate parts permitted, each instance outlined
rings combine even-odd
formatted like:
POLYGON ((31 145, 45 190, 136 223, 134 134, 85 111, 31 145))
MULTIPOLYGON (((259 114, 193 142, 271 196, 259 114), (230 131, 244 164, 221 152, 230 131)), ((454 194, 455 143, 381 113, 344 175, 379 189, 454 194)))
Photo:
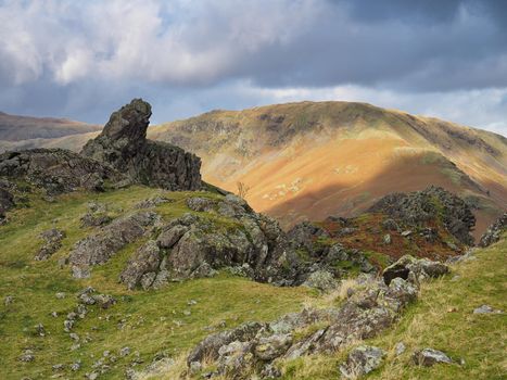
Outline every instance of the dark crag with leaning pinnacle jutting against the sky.
POLYGON ((141 99, 114 112, 83 156, 106 163, 132 180, 168 190, 201 188, 201 160, 182 149, 147 140, 151 105, 141 99))

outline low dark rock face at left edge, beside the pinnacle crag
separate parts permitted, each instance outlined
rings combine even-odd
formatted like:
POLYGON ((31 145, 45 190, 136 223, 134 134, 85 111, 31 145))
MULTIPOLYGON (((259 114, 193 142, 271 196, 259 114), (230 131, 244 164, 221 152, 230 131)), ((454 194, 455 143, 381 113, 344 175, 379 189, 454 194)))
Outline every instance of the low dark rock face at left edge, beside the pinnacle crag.
POLYGON ((63 149, 33 149, 0 154, 0 176, 21 179, 43 188, 48 194, 60 194, 79 188, 101 191, 104 180, 125 179, 100 162, 63 149))

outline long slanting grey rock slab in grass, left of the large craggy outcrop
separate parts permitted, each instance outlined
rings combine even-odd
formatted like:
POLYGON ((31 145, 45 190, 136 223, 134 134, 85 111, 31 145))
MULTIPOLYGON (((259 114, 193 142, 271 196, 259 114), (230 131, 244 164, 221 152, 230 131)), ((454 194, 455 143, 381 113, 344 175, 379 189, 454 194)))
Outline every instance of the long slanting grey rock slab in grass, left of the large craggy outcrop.
POLYGON ((68 256, 73 276, 89 276, 90 267, 107 262, 126 244, 140 238, 156 220, 153 212, 138 212, 114 220, 96 233, 79 240, 68 256))

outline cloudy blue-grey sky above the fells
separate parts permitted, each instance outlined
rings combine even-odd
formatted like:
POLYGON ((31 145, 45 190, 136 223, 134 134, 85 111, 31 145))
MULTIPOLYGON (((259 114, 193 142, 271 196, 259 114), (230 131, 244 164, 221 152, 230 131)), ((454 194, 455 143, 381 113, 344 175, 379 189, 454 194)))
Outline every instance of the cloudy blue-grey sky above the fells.
POLYGON ((0 111, 362 101, 507 136, 504 0, 0 0, 0 111))

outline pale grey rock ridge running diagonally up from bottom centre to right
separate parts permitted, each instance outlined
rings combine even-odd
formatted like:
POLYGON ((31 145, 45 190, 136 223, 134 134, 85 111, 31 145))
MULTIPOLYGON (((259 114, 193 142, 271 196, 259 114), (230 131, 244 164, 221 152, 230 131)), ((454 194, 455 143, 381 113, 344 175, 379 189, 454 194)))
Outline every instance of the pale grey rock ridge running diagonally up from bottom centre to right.
MULTIPOLYGON (((407 280, 396 277, 389 286, 372 277, 366 282, 360 280, 357 292, 352 292, 341 307, 304 309, 272 322, 250 322, 212 334, 191 351, 188 366, 200 368, 205 360, 214 360, 216 370, 211 377, 249 379, 252 372, 261 377, 276 373, 277 359, 334 354, 358 340, 372 338, 392 326, 417 297, 419 280, 424 278, 421 267, 427 266, 419 264, 415 262, 409 268, 407 280)), ((357 347, 342 366, 342 373, 352 378, 367 373, 381 364, 383 356, 376 347, 357 347)))

